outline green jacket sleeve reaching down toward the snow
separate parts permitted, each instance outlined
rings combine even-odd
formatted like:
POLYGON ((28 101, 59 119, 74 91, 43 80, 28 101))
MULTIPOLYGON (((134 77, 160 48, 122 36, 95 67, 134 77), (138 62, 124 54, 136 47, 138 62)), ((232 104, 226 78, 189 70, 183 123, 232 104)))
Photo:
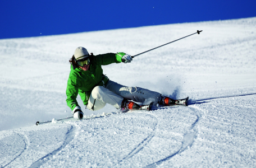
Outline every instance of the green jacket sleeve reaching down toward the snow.
POLYGON ((77 77, 70 75, 67 81, 66 102, 67 102, 67 106, 70 107, 71 110, 75 109, 76 106, 79 106, 76 101, 79 86, 80 86, 80 82, 79 80, 77 80, 77 77))

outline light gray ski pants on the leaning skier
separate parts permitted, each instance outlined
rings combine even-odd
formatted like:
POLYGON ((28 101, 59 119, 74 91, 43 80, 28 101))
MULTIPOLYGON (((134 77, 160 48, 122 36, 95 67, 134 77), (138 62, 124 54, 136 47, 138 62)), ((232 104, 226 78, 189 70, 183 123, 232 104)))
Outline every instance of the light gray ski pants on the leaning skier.
POLYGON ((125 99, 142 104, 149 104, 154 101, 158 103, 161 94, 150 91, 141 87, 127 87, 113 81, 108 81, 106 87, 96 86, 90 95, 87 108, 89 110, 99 110, 106 104, 114 106, 116 109, 121 108, 121 102, 125 99))

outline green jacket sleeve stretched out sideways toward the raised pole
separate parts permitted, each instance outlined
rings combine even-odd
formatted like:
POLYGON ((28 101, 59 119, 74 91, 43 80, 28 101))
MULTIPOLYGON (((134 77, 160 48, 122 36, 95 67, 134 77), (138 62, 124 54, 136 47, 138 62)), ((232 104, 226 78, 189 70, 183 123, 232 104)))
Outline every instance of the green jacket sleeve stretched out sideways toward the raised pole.
POLYGON ((95 60, 102 66, 106 66, 112 63, 120 63, 122 62, 122 57, 125 53, 107 53, 107 54, 100 54, 95 56, 95 60))

